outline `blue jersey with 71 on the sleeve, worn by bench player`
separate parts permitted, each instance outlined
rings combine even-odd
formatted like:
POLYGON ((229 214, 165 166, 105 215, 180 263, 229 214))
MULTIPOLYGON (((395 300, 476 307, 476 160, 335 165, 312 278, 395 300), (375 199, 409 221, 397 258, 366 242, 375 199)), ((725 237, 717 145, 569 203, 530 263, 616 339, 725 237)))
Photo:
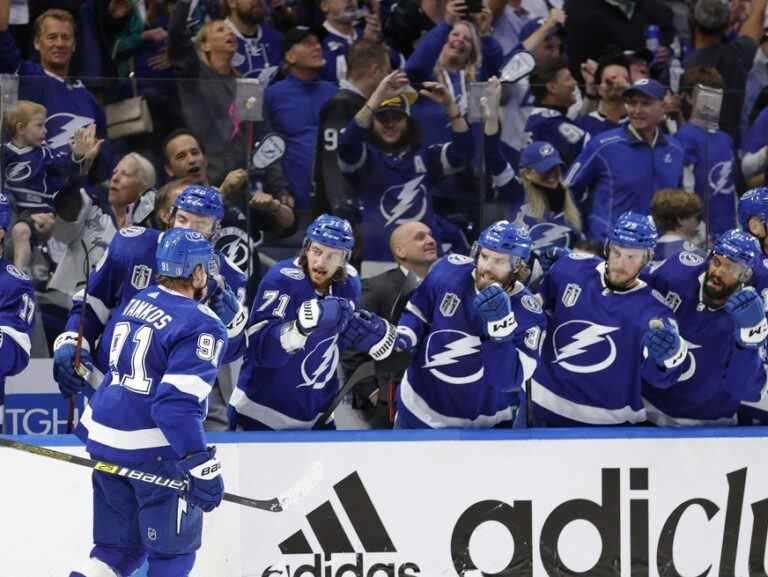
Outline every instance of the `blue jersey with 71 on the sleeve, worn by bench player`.
MULTIPOLYGON (((347 279, 330 295, 355 305, 361 286, 347 266, 347 279)), ((298 259, 275 263, 264 276, 246 325, 248 349, 232 394, 235 422, 246 429, 311 429, 339 390, 339 334, 316 330, 292 344, 286 332, 301 304, 320 298, 298 259)))

